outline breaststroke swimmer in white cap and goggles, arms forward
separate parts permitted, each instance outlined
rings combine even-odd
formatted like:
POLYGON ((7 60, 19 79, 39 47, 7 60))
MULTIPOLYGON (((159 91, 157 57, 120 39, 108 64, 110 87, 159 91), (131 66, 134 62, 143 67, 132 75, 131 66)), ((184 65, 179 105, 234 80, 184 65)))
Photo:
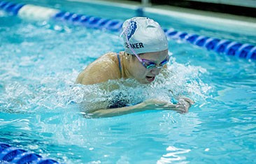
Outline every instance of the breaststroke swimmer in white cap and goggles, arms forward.
MULTIPOLYGON (((97 84, 122 78, 150 84, 167 68, 168 41, 157 22, 147 17, 133 17, 124 22, 122 29, 125 51, 110 52, 99 57, 78 75, 76 83, 97 84)), ((190 98, 180 98, 176 104, 149 99, 131 106, 99 105, 98 108, 87 110, 87 114, 92 117, 113 117, 145 110, 174 110, 185 113, 193 103, 190 98)))

